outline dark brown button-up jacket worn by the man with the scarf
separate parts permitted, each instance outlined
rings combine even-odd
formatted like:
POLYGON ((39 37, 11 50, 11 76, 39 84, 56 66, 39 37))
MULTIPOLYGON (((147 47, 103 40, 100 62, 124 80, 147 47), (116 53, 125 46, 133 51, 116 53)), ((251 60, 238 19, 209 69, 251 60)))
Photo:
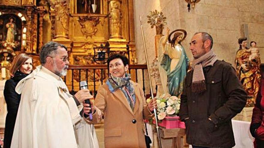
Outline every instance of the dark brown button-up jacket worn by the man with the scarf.
POLYGON ((203 72, 206 91, 192 92, 191 70, 181 95, 180 117, 189 118, 185 121, 187 143, 210 148, 233 147, 231 119, 244 108, 247 94, 231 64, 217 60, 213 67, 203 68, 203 72))

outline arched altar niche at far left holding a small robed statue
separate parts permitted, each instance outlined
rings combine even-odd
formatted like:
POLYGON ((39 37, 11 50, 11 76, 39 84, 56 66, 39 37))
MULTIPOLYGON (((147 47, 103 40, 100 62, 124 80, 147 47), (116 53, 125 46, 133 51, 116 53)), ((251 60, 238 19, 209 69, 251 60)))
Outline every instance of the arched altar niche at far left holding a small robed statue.
POLYGON ((20 51, 22 22, 14 14, 3 14, 0 16, 0 48, 20 51))

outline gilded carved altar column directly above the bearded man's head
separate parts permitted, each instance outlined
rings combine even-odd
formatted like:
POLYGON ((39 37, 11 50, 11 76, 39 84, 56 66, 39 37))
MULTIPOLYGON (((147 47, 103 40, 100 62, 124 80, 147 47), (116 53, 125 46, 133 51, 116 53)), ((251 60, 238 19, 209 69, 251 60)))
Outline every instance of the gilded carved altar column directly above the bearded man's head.
POLYGON ((69 32, 69 1, 55 1, 55 40, 68 40, 69 32))

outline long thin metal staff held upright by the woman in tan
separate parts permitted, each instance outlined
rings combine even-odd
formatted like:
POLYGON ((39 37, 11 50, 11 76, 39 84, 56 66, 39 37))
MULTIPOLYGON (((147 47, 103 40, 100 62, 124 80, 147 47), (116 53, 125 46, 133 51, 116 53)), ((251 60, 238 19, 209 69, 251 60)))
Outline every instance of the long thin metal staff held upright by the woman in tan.
MULTIPOLYGON (((140 16, 140 28, 141 28, 141 35, 142 35, 144 51, 145 51, 145 57, 146 57, 146 62, 147 62, 147 68, 148 68, 148 73, 149 73, 150 94, 151 94, 152 99, 154 99, 153 89, 152 89, 152 80, 151 80, 150 68, 149 68, 149 59, 148 59, 148 54, 147 54, 147 48, 146 48, 146 42, 145 42, 145 36, 144 36, 143 24, 142 24, 141 16, 140 16)), ((159 126, 158 126, 158 118, 157 118, 157 113, 156 113, 156 109, 155 108, 154 108, 154 115, 155 115, 155 121, 156 121, 156 129, 157 129, 157 135, 158 135, 158 141, 159 141, 159 148, 162 148, 161 147, 161 136, 160 136, 159 126)))

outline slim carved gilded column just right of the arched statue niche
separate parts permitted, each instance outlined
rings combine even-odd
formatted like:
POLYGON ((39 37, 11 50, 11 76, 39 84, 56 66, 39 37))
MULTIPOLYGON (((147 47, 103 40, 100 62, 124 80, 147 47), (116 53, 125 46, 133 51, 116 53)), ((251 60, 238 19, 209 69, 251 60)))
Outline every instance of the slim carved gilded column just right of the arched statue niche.
POLYGON ((31 26, 31 22, 32 22, 32 11, 33 8, 32 7, 26 7, 27 10, 27 16, 28 16, 28 20, 27 20, 27 33, 26 33, 26 37, 27 37, 27 43, 26 43, 26 53, 31 53, 31 49, 32 49, 32 45, 31 45, 31 32, 32 32, 32 26, 31 26))

